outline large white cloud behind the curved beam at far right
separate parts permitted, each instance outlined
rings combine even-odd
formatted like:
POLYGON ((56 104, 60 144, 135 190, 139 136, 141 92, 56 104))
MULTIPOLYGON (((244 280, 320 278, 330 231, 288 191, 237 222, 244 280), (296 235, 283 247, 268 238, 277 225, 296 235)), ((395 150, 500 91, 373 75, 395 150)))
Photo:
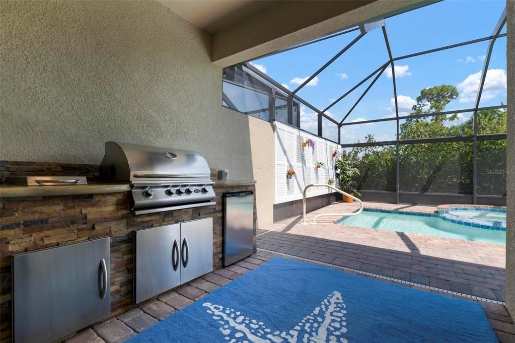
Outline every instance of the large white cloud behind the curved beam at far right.
MULTIPOLYGON (((481 79, 481 71, 470 74, 465 80, 458 83, 459 102, 475 101, 479 82, 481 79)), ((497 95, 506 92, 506 71, 504 69, 489 69, 486 73, 485 85, 481 98, 490 100, 497 95)))

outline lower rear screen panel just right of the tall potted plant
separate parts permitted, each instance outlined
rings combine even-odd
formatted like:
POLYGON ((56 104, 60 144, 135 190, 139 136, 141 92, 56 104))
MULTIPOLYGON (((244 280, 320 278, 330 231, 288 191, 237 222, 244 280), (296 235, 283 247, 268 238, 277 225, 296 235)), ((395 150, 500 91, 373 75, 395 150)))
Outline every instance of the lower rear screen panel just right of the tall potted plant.
POLYGON ((357 161, 359 176, 355 178, 356 189, 365 191, 391 191, 396 187, 396 147, 369 146, 346 148, 357 161))

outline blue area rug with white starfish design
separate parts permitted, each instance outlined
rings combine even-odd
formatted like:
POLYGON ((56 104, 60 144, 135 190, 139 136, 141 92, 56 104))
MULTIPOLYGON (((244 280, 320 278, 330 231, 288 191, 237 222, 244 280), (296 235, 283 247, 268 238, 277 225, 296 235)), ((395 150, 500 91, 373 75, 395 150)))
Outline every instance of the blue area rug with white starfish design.
POLYGON ((497 342, 474 302, 274 258, 130 343, 497 342))

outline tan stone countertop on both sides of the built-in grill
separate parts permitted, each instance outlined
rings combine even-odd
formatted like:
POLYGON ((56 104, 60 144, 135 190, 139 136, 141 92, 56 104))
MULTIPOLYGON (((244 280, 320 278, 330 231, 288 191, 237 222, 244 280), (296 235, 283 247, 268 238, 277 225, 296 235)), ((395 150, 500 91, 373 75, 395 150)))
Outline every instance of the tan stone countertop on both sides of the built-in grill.
MULTIPOLYGON (((239 181, 215 181, 215 187, 249 186, 254 185, 254 180, 239 181)), ((18 198, 33 196, 54 196, 54 195, 79 195, 79 194, 104 194, 128 192, 130 184, 126 183, 90 183, 87 185, 75 186, 0 186, 0 198, 18 198)))

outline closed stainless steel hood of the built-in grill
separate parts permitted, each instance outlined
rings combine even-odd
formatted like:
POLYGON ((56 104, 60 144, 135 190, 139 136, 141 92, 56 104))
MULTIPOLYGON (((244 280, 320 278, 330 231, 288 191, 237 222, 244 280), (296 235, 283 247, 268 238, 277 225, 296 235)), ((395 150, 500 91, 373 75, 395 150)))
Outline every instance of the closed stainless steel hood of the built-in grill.
POLYGON ((210 181, 210 175, 198 152, 129 143, 107 142, 100 164, 102 179, 119 182, 210 181))

